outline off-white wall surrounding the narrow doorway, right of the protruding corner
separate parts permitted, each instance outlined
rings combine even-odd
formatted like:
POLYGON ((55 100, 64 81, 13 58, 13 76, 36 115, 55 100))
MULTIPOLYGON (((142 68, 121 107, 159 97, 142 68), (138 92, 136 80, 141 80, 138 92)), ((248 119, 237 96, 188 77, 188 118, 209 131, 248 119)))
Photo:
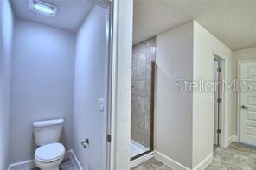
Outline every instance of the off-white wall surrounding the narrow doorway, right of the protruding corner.
MULTIPOLYGON (((232 51, 211 35, 205 28, 194 22, 194 63, 193 79, 214 81, 214 52, 226 60, 227 80, 234 78, 232 51)), ((226 89, 227 90, 227 89, 226 89)), ((226 91, 227 136, 235 135, 234 91, 226 91)), ((193 167, 213 153, 214 101, 213 92, 193 93, 193 167)), ((223 131, 222 131, 223 133, 223 131)))

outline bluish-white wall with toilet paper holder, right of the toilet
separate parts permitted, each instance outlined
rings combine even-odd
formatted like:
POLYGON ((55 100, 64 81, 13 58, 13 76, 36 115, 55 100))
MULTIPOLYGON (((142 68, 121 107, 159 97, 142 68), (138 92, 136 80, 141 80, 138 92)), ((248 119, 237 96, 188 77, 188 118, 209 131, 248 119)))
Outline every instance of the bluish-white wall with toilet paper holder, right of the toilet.
POLYGON ((106 166, 106 112, 98 108, 106 88, 106 17, 95 6, 76 36, 73 148, 81 166, 92 170, 106 166), (86 138, 89 148, 81 145, 86 138))

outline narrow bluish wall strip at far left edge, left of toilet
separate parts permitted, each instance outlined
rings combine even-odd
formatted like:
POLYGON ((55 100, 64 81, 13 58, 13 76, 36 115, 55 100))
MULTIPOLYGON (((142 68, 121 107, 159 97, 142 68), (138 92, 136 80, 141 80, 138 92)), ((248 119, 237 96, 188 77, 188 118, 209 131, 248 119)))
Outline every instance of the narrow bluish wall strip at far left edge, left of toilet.
POLYGON ((14 16, 8 0, 0 1, 0 169, 9 163, 10 75, 14 16))

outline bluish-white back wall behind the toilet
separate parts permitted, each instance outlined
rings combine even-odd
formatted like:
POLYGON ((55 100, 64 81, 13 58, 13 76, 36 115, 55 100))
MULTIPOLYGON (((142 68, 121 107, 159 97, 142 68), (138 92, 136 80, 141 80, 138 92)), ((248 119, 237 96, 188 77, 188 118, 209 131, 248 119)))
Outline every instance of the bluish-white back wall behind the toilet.
POLYGON ((32 122, 65 118, 62 142, 72 134, 75 35, 16 20, 12 69, 10 162, 34 158, 32 122))

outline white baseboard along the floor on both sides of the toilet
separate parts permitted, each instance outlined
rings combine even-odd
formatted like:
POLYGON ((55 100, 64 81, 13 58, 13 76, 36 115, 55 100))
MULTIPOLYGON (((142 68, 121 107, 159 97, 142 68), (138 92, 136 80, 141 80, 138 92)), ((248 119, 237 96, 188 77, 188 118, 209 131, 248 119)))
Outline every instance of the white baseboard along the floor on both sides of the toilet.
MULTIPOLYGON (((76 164, 76 167, 79 168, 79 170, 83 170, 83 168, 80 166, 80 162, 78 161, 76 155, 74 154, 74 151, 71 149, 71 150, 68 150, 66 153, 65 153, 65 157, 64 159, 67 159, 67 158, 73 158, 74 159, 74 162, 76 164)), ((8 167, 8 170, 21 170, 21 169, 33 169, 35 168, 35 161, 34 160, 28 160, 28 161, 19 161, 19 162, 16 162, 16 163, 12 163, 9 165, 8 167)))

